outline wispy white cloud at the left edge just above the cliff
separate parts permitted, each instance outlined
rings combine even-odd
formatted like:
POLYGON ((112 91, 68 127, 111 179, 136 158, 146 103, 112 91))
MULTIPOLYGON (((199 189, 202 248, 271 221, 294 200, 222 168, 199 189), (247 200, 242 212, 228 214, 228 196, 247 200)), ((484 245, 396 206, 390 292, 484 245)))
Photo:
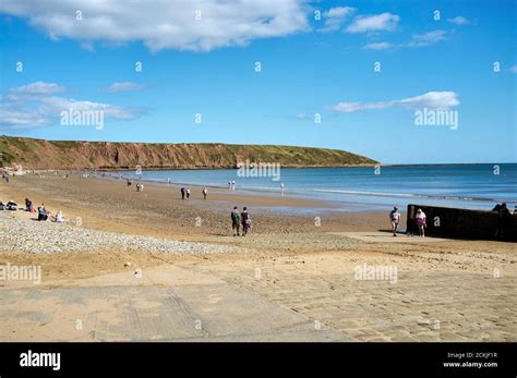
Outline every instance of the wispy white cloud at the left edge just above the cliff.
POLYGON ((8 129, 38 127, 58 124, 62 111, 101 110, 106 120, 133 120, 146 109, 55 96, 65 88, 55 83, 37 82, 9 89, 0 97, 0 126, 8 129), (58 90, 59 89, 59 90, 58 90))

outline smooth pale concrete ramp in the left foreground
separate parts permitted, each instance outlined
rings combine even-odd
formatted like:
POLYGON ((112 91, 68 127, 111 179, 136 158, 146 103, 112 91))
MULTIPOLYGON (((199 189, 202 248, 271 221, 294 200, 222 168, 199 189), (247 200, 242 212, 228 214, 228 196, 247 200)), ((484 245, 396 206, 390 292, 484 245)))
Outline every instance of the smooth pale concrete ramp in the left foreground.
POLYGON ((180 267, 4 286, 0 298, 0 341, 353 341, 180 267))

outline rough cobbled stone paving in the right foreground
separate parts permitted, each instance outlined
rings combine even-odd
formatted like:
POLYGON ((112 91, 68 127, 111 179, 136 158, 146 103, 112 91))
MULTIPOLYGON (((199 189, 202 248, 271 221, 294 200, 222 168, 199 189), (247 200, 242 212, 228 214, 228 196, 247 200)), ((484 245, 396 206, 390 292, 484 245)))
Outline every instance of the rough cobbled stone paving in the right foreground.
POLYGON ((399 271, 397 282, 322 273, 310 261, 276 269, 199 267, 362 341, 516 341, 517 279, 399 271), (308 264, 305 264, 308 263, 308 264))

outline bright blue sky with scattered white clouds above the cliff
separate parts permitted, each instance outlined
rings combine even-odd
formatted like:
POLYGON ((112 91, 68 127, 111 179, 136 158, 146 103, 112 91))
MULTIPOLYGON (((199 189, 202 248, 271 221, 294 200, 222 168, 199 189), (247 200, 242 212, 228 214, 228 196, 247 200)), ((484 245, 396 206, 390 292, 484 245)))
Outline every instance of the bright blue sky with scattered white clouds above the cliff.
POLYGON ((2 0, 0 134, 516 162, 516 14, 512 0, 2 0), (424 108, 457 127, 417 125, 424 108), (63 124, 69 109, 104 126, 63 124))

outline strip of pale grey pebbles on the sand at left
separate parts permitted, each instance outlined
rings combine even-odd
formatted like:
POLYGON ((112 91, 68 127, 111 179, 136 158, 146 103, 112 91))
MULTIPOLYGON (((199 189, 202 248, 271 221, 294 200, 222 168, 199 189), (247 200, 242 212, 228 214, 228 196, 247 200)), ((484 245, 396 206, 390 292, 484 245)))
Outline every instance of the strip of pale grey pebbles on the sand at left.
POLYGON ((135 236, 67 223, 17 219, 8 211, 0 211, 0 251, 52 254, 98 249, 191 255, 243 252, 242 248, 219 244, 135 236))

